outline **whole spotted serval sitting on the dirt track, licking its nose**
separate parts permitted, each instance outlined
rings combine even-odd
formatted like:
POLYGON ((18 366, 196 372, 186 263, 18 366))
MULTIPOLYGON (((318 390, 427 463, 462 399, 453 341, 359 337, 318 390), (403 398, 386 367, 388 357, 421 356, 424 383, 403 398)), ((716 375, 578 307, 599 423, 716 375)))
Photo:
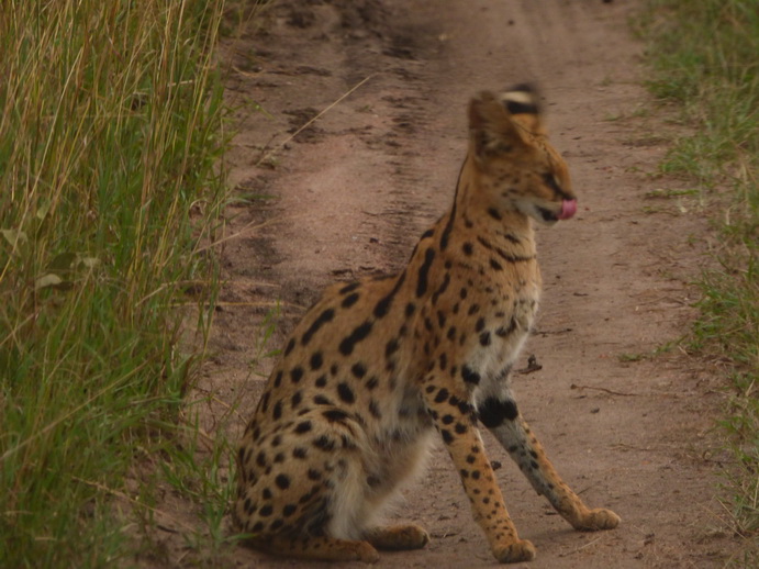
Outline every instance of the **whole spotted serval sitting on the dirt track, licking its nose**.
POLYGON ((559 478, 510 388, 540 292, 533 221, 576 210, 535 90, 473 98, 469 138, 454 204, 405 269, 333 286, 287 343, 239 446, 233 517, 253 546, 367 562, 377 548, 423 547, 424 529, 387 527, 382 511, 437 434, 495 558, 532 559, 480 425, 573 527, 617 525, 559 478))

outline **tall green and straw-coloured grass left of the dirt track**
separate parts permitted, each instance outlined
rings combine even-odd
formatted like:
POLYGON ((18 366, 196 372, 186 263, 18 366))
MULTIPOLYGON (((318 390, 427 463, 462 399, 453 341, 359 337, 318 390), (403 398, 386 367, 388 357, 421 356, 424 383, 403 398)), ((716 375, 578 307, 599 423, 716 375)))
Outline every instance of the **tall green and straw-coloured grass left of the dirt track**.
POLYGON ((0 9, 0 567, 126 555, 111 498, 176 417, 172 306, 213 269, 222 4, 0 9))

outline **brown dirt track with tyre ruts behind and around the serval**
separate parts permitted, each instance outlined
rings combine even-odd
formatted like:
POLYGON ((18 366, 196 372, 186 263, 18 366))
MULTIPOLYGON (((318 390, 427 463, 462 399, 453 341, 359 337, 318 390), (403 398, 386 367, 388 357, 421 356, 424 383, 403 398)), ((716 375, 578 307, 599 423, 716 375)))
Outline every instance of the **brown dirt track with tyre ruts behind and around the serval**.
MULTIPOLYGON (((640 4, 281 0, 239 24, 221 55, 238 199, 199 386, 219 402, 207 428, 233 408, 236 437, 267 353, 325 284, 403 266, 453 199, 471 94, 536 81, 580 209, 539 230, 544 302, 515 390, 565 479, 623 522, 572 531, 485 436, 520 535, 537 547, 529 567, 722 567, 736 545, 715 499, 719 378, 676 342, 694 317, 688 282, 708 232, 699 203, 662 198, 681 182, 651 174, 670 135, 641 87, 627 23, 640 4)), ((406 499, 398 518, 433 540, 380 566, 495 565, 442 449, 406 499)), ((192 565, 175 554, 167 565, 192 565)), ((309 565, 235 546, 219 555, 224 567, 309 565)))

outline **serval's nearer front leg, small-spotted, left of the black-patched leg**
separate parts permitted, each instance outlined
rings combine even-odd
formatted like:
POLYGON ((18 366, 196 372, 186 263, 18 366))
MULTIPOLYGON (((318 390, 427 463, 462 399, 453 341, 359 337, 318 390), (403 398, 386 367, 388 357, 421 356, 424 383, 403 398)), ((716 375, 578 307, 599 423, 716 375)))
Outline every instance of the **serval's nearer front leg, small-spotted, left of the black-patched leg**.
POLYGON ((493 556, 500 562, 529 561, 535 557, 535 547, 520 539, 509 517, 467 393, 451 393, 434 380, 426 382, 423 393, 428 413, 459 472, 475 521, 482 527, 493 556))

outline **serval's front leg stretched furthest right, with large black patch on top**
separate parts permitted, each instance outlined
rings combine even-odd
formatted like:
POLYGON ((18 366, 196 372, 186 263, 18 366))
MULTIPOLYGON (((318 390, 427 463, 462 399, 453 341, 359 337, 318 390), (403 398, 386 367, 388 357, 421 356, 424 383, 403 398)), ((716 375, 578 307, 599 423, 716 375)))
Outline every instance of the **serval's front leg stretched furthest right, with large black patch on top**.
POLYGON ((481 423, 509 451, 537 493, 545 495, 572 527, 594 532, 617 526, 618 515, 611 510, 589 509, 561 480, 507 390, 482 401, 478 405, 478 415, 481 423))

